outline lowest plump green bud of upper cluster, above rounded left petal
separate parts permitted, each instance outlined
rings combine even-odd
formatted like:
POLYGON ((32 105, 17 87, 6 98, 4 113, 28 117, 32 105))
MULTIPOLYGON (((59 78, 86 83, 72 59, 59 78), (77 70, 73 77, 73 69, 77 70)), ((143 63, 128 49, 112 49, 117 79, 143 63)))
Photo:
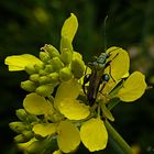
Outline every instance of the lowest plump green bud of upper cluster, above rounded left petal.
POLYGON ((47 84, 47 85, 42 85, 40 87, 36 88, 35 92, 37 95, 41 95, 43 97, 48 97, 53 94, 54 91, 54 87, 52 84, 47 84))

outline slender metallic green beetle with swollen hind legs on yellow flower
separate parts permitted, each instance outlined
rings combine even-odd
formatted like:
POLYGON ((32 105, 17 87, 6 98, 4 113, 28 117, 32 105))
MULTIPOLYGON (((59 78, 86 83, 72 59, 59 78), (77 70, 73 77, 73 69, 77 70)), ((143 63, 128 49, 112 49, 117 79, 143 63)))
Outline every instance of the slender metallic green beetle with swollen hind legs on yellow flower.
MULTIPOLYGON (((116 51, 116 50, 113 50, 113 51, 116 51)), ((111 52, 113 52, 113 51, 111 51, 111 52)), ((103 88, 106 82, 108 82, 110 77, 112 77, 111 74, 110 75, 105 74, 105 69, 108 66, 110 66, 110 63, 118 56, 118 53, 112 59, 108 61, 108 58, 111 55, 110 53, 101 53, 100 56, 95 62, 88 64, 88 66, 91 68, 91 74, 87 74, 84 77, 82 89, 84 89, 84 92, 87 96, 87 99, 88 99, 88 102, 89 102, 90 106, 92 106, 96 101, 97 94, 100 89, 100 85, 103 82, 103 86, 102 86, 102 88, 103 88), (87 87, 87 90, 86 90, 85 85, 88 81, 89 81, 89 86, 87 87)))

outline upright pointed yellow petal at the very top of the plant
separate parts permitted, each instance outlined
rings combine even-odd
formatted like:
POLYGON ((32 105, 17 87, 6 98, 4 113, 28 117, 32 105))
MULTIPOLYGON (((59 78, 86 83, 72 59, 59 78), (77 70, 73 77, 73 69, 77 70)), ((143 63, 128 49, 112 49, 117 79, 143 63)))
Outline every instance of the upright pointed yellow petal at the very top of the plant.
POLYGON ((67 37, 70 42, 73 42, 77 29, 77 18, 74 13, 70 13, 70 16, 64 22, 61 34, 62 36, 67 37))

